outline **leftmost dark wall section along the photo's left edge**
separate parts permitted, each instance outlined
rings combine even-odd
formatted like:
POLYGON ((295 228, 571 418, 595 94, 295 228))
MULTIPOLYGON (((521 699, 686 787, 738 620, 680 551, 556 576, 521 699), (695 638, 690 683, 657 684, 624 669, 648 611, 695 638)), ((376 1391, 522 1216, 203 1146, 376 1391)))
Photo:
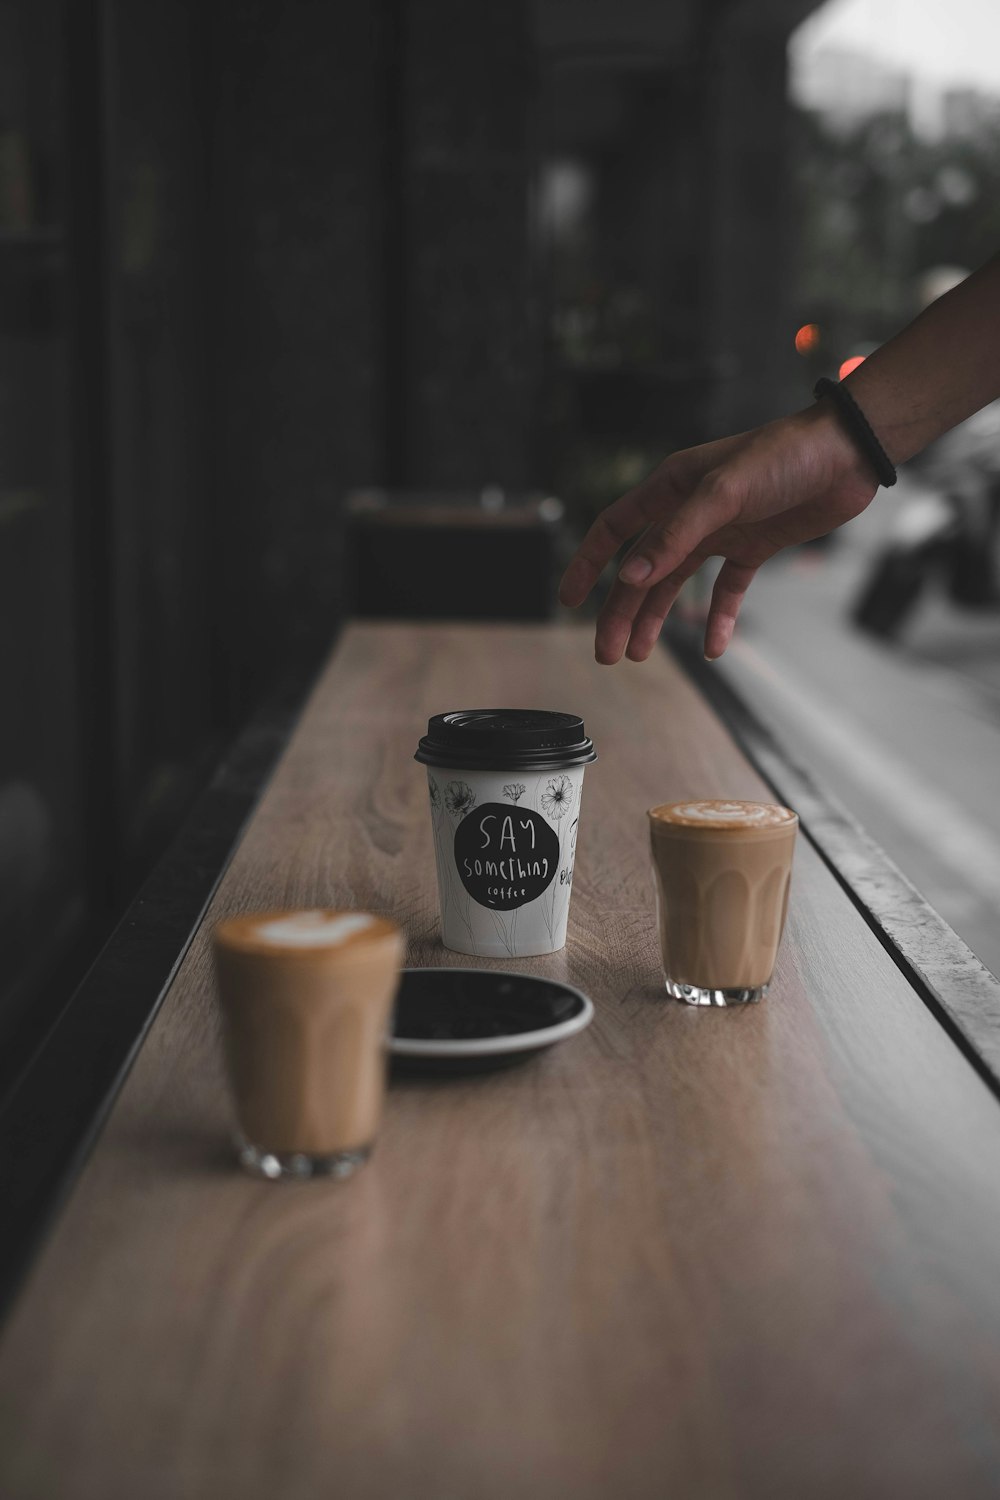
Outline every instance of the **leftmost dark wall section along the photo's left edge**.
MULTIPOLYGON (((85 918, 66 36, 0 3, 0 1034, 85 918)), ((0 1046, 0 1092, 4 1048, 0 1046)))

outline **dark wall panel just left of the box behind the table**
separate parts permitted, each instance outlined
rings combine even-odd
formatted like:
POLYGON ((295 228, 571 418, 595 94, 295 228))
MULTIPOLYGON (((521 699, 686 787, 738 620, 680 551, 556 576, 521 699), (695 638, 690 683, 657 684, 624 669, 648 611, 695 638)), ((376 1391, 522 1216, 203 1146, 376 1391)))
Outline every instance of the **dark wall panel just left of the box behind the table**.
POLYGON ((340 498, 384 466, 385 8, 222 0, 216 504, 229 699, 339 616, 340 498))

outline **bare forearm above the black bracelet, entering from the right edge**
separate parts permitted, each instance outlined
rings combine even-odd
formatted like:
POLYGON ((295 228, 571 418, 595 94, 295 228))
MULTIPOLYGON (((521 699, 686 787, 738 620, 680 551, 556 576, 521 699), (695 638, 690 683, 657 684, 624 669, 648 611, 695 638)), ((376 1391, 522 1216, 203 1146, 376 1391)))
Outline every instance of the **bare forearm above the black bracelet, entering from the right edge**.
POLYGON ((894 464, 1000 398, 1000 255, 931 303, 844 384, 894 464))

